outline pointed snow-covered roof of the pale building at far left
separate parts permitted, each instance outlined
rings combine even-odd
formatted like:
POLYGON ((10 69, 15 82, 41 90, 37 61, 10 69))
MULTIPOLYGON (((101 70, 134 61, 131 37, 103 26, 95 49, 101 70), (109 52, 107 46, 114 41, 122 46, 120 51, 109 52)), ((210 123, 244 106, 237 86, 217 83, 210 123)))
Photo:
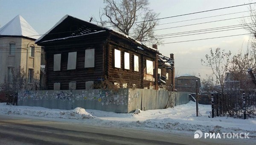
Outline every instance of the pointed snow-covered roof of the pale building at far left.
POLYGON ((39 38, 38 32, 20 14, 0 28, 0 35, 24 36, 32 39, 39 38))

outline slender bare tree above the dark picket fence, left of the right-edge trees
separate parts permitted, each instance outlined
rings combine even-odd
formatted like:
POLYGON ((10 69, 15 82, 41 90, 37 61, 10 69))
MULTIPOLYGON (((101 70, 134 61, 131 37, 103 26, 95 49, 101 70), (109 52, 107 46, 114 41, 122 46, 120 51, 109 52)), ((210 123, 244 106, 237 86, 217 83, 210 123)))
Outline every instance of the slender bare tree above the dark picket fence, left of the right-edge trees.
POLYGON ((202 65, 212 69, 216 84, 221 85, 222 94, 224 93, 224 81, 230 65, 230 55, 230 51, 225 52, 224 49, 216 48, 214 52, 212 48, 210 48, 210 54, 205 55, 206 60, 201 59, 202 65))

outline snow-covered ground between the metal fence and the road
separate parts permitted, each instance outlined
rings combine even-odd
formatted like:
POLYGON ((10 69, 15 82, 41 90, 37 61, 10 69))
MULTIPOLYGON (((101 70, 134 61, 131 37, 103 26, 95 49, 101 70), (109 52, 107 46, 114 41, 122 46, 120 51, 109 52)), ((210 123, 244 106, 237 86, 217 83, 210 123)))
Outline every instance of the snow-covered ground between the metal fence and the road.
POLYGON ((38 116, 56 121, 87 123, 110 127, 158 130, 164 132, 185 131, 194 133, 197 130, 215 133, 250 133, 256 138, 256 119, 234 119, 227 117, 209 118, 211 105, 199 104, 196 117, 195 102, 179 105, 174 108, 158 110, 137 110, 137 113, 113 113, 100 110, 48 109, 43 107, 10 106, 0 104, 0 114, 38 116))

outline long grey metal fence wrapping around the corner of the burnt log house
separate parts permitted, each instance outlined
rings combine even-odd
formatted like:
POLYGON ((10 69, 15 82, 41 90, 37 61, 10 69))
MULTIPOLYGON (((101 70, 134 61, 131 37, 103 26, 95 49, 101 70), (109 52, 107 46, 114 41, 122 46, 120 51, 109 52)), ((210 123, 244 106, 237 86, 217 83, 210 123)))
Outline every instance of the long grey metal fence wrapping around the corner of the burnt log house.
POLYGON ((76 107, 116 113, 130 113, 136 109, 163 109, 168 104, 189 102, 186 92, 147 89, 111 90, 37 90, 19 91, 18 105, 71 110, 76 107), (169 98, 170 96, 170 98, 169 98), (169 103, 168 103, 169 102, 169 103))

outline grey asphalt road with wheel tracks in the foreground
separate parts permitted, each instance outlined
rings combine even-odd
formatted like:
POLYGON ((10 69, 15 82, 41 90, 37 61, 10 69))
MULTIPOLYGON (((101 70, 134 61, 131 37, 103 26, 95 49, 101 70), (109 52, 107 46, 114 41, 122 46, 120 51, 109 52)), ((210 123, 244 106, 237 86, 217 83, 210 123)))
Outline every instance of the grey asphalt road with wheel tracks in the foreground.
POLYGON ((0 115, 0 145, 252 144, 253 140, 194 139, 193 134, 109 128, 0 115))

